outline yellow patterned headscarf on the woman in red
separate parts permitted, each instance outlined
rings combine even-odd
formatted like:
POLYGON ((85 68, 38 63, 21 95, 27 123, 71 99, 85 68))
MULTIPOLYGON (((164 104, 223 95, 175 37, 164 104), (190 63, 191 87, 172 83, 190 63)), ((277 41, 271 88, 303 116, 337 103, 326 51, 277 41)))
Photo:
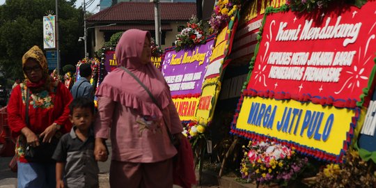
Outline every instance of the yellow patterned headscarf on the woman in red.
MULTIPOLYGON (((40 67, 42 67, 43 70, 43 79, 46 79, 48 76, 48 65, 47 59, 45 57, 45 54, 43 54, 42 49, 40 49, 38 46, 31 47, 31 49, 29 49, 29 51, 27 51, 24 56, 22 56, 22 69, 24 69, 24 65, 29 58, 33 58, 38 61, 40 67)), ((25 78, 27 79, 26 75, 25 78)))

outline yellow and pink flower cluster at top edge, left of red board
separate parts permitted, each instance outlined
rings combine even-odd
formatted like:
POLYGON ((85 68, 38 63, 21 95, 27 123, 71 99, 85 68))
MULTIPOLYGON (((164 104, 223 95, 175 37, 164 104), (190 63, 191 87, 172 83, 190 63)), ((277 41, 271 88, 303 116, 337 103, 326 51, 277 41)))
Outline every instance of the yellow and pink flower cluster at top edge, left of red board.
POLYGON ((238 0, 219 0, 214 6, 212 17, 210 17, 209 24, 212 29, 212 33, 218 33, 230 19, 235 19, 236 10, 240 8, 240 1, 238 0))

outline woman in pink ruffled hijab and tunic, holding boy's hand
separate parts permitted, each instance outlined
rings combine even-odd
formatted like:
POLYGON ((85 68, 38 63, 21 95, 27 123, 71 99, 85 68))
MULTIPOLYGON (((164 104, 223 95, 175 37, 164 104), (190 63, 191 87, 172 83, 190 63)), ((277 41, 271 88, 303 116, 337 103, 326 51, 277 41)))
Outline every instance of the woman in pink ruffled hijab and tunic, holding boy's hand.
POLYGON ((119 67, 104 78, 96 93, 95 157, 107 159, 103 140, 110 137, 111 187, 173 187, 172 157, 177 151, 166 129, 181 138, 182 124, 169 86, 150 58, 150 33, 125 31, 116 46, 119 67), (146 85, 162 111, 121 66, 146 85))

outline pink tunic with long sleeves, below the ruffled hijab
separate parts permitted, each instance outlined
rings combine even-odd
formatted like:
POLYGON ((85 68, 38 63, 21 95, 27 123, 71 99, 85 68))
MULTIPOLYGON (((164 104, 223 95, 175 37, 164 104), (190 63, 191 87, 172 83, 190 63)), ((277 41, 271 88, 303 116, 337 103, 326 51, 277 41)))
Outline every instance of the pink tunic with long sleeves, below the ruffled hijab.
MULTIPOLYGON (((95 123, 95 135, 108 139, 111 132, 113 160, 134 163, 160 162, 176 154, 163 119, 157 120, 157 125, 152 125, 151 129, 145 128, 141 123, 137 123, 142 121, 141 114, 114 102, 109 97, 100 97, 98 111, 99 120, 95 123)), ((180 118, 173 102, 164 109, 163 116, 171 134, 182 132, 180 118)))

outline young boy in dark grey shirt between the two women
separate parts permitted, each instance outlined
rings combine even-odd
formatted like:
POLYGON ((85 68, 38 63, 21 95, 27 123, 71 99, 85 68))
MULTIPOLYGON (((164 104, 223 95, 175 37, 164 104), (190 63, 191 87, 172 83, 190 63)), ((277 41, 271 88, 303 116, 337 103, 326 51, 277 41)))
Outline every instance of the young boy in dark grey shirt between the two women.
POLYGON ((70 133, 64 134, 52 156, 56 160, 56 188, 99 187, 92 130, 94 102, 79 97, 70 104, 70 133))

